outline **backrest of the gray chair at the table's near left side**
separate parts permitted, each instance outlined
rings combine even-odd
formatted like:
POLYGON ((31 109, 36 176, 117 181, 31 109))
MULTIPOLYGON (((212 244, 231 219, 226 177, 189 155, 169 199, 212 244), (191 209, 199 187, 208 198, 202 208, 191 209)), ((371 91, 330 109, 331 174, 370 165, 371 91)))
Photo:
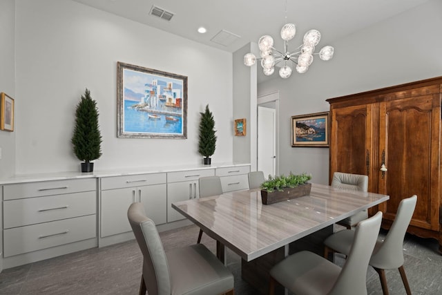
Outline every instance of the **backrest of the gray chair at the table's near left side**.
POLYGON ((155 223, 146 217, 140 202, 131 204, 127 218, 143 254, 143 278, 147 293, 171 294, 169 265, 155 223))

